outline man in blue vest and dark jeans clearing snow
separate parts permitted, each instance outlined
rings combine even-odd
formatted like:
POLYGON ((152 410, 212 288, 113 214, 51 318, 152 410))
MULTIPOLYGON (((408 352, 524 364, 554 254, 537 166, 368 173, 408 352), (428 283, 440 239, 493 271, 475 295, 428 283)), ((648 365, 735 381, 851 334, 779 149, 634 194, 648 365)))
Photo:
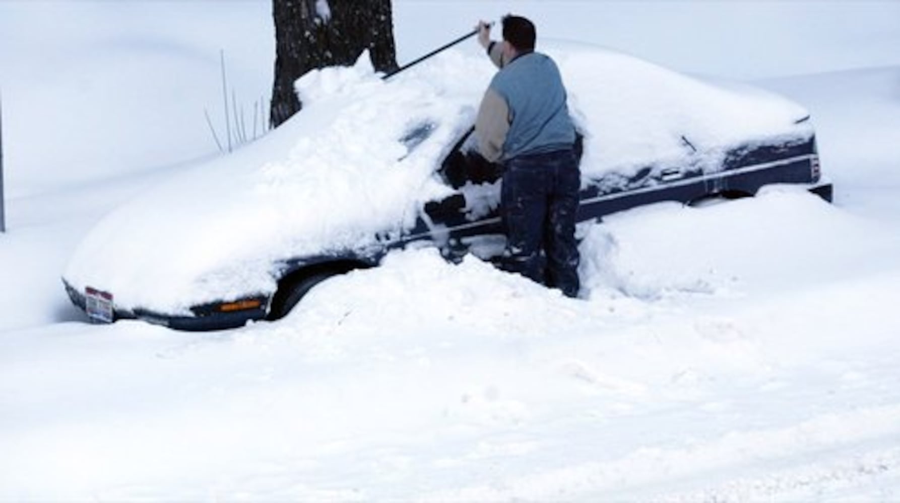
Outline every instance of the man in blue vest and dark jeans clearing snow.
POLYGON ((581 173, 575 128, 554 61, 535 52, 534 23, 503 18, 503 41, 479 23, 478 41, 500 72, 484 93, 475 135, 485 158, 503 162, 500 216, 507 234, 503 269, 566 296, 578 296, 575 239, 581 173))

